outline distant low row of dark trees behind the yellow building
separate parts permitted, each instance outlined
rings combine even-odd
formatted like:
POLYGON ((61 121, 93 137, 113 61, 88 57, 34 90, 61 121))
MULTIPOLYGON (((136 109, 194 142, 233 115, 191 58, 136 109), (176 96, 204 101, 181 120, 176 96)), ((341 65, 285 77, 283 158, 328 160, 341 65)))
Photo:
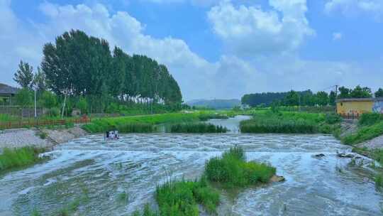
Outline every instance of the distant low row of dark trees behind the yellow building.
MULTIPOLYGON (((256 106, 270 106, 272 103, 278 103, 282 106, 326 106, 335 105, 336 99, 341 98, 368 98, 372 97, 372 91, 369 87, 360 87, 357 85, 354 89, 348 89, 346 87, 339 87, 338 95, 335 91, 328 92, 316 92, 311 90, 303 92, 296 92, 291 90, 290 92, 267 92, 267 93, 255 93, 244 95, 241 99, 242 104, 248 104, 250 107, 256 106)), ((383 97, 383 89, 379 88, 374 93, 375 97, 383 97)))

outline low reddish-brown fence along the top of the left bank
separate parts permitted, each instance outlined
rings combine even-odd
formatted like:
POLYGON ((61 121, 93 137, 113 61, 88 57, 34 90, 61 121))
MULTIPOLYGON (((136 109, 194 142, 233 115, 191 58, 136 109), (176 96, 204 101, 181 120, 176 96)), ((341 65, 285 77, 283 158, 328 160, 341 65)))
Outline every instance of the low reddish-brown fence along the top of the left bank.
POLYGON ((32 126, 65 125, 65 124, 86 124, 91 121, 88 117, 81 119, 59 119, 59 120, 27 120, 27 121, 6 121, 0 122, 0 129, 12 129, 32 126))

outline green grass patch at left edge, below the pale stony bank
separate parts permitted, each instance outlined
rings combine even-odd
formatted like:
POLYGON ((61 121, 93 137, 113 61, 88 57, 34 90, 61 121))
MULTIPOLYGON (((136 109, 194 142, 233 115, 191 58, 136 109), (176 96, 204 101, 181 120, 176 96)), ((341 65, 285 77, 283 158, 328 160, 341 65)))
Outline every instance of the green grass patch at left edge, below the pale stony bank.
POLYGON ((0 154, 0 172, 38 163, 43 160, 38 157, 43 151, 42 148, 33 147, 4 148, 0 154))

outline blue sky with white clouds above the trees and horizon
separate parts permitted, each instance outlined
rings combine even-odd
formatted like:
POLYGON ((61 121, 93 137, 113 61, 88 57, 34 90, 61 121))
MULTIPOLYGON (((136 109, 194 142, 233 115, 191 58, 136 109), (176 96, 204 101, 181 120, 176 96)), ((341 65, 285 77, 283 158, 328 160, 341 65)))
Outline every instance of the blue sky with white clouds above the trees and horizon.
POLYGON ((383 87, 382 0, 0 0, 0 82, 79 29, 169 68, 184 100, 383 87))

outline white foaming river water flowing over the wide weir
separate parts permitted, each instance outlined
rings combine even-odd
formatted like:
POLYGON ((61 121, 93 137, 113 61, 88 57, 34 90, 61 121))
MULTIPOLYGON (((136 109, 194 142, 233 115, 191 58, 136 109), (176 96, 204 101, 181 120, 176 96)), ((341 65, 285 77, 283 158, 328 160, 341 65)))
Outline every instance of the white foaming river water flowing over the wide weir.
POLYGON ((30 215, 34 208, 52 215, 84 194, 79 215, 130 215, 155 205, 155 187, 169 173, 196 178, 207 159, 235 145, 248 160, 271 163, 286 181, 225 198, 219 215, 382 214, 369 159, 350 166, 350 158, 336 156, 350 148, 333 136, 234 133, 243 118, 211 121, 231 134, 123 134, 118 141, 91 135, 61 144, 47 153, 50 161, 0 176, 0 215, 30 215), (119 201, 122 193, 127 202, 119 201))

